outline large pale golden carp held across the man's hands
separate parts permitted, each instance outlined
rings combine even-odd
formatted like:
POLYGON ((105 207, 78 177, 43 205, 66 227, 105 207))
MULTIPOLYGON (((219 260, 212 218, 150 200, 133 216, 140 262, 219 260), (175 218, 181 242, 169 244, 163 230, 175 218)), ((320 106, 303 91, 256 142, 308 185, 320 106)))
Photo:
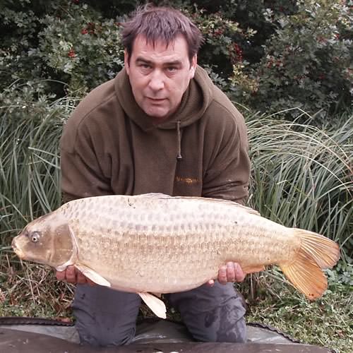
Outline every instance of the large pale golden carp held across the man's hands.
POLYGON ((74 265, 99 285, 136 292, 161 317, 165 306, 150 293, 196 288, 227 261, 245 273, 280 265, 294 287, 316 299, 327 287, 322 269, 340 257, 334 241, 238 203, 158 193, 71 201, 30 222, 12 245, 24 260, 56 270, 74 265))

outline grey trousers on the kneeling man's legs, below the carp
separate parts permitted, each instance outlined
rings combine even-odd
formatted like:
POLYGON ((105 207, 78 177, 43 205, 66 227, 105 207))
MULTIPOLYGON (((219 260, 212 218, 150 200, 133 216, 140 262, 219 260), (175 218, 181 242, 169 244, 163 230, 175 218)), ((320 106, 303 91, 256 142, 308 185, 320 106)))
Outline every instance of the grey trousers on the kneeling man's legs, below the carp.
MULTIPOLYGON (((244 300, 232 285, 203 285, 188 292, 166 294, 169 303, 195 340, 245 342, 244 300)), ((138 294, 107 287, 77 285, 73 301, 80 342, 93 346, 127 345, 136 331, 138 294)))

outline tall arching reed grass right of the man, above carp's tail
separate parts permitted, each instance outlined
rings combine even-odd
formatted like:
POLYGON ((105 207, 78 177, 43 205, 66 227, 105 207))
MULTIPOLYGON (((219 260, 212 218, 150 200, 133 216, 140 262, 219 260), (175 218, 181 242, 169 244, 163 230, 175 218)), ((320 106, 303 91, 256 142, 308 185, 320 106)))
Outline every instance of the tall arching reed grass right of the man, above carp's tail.
POLYGON ((247 126, 251 206, 339 241, 343 257, 352 258, 353 116, 331 130, 256 114, 247 126))

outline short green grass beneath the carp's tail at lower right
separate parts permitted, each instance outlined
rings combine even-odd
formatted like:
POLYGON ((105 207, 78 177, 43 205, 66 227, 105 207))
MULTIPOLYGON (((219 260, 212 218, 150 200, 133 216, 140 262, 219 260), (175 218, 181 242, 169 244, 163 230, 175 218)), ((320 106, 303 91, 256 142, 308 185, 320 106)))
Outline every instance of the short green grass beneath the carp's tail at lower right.
POLYGON ((250 300, 248 322, 272 325, 302 343, 335 349, 335 352, 352 352, 352 285, 330 282, 323 297, 307 301, 270 275, 259 277, 258 282, 266 284, 261 296, 250 300), (271 292, 266 288, 271 288, 271 292))

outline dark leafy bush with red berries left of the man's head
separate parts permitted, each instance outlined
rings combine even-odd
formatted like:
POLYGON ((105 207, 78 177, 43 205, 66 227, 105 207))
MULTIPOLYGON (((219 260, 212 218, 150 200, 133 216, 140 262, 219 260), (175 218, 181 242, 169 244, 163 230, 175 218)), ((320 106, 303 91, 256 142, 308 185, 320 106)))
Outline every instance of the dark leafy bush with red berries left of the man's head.
POLYGON ((123 66, 119 21, 102 18, 88 4, 59 1, 41 17, 8 9, 3 16, 8 25, 22 28, 24 23, 30 32, 37 31, 35 38, 3 46, 0 66, 8 82, 49 79, 48 90, 82 96, 123 66))

